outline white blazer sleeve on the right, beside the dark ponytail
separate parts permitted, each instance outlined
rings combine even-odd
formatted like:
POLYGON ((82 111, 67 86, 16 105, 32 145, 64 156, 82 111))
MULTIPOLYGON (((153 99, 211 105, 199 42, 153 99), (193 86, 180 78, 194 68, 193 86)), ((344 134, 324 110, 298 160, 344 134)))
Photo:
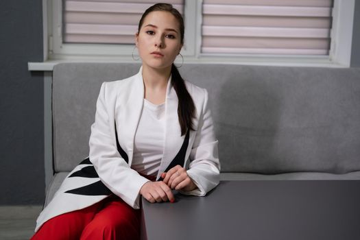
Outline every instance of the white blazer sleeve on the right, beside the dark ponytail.
POLYGON ((195 141, 190 152, 187 173, 197 189, 183 192, 189 195, 204 196, 219 184, 220 163, 218 141, 215 138, 211 110, 208 108, 208 92, 204 89, 204 104, 200 115, 195 141))

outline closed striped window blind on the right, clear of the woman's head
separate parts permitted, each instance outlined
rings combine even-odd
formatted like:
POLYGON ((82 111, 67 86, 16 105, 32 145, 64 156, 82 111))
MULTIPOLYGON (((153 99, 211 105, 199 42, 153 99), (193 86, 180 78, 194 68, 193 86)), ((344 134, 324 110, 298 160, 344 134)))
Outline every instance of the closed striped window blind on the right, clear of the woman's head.
POLYGON ((328 55, 333 0, 204 0, 202 53, 328 55))

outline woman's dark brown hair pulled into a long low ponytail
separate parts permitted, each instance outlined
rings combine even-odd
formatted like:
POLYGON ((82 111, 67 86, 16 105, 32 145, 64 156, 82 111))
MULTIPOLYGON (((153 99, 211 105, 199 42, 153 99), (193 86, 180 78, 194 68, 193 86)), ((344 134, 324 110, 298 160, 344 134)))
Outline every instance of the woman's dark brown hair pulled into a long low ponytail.
MULTIPOLYGON (((138 32, 140 32, 141 26, 143 25, 147 14, 155 11, 170 12, 176 18, 176 20, 178 20, 180 28, 180 42, 183 44, 185 29, 184 19, 182 19, 180 12, 168 3, 156 3, 150 8, 147 8, 139 21, 138 32)), ((178 95, 178 118, 181 128, 181 136, 183 136, 187 133, 187 130, 194 130, 193 119, 195 118, 195 104, 189 91, 187 91, 187 86, 185 86, 184 79, 181 77, 175 64, 171 65, 171 82, 173 84, 173 89, 176 91, 176 95, 178 95)))

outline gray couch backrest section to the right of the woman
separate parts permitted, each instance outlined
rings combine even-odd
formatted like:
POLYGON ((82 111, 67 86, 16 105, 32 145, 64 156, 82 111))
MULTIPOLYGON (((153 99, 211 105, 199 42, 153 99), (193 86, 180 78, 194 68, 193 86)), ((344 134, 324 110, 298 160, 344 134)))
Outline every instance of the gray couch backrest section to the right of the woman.
POLYGON ((221 171, 360 170, 360 69, 191 65, 208 89, 221 171))

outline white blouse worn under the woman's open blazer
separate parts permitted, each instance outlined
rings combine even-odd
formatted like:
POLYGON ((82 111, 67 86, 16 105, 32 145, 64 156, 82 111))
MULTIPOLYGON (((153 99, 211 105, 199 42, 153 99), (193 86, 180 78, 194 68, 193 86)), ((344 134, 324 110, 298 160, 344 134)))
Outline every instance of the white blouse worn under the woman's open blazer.
POLYGON ((144 175, 156 176, 163 158, 164 139, 165 103, 156 105, 144 99, 131 168, 144 175))

